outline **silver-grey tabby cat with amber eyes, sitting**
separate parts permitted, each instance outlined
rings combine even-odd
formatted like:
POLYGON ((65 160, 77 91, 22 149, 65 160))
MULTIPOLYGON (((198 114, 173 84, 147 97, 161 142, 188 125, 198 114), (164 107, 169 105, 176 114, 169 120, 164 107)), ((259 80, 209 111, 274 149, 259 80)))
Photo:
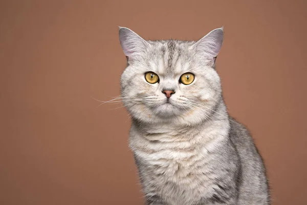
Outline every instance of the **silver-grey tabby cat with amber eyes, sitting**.
POLYGON ((270 204, 264 162, 223 100, 223 38, 223 27, 197 42, 144 40, 119 27, 121 98, 146 204, 270 204))

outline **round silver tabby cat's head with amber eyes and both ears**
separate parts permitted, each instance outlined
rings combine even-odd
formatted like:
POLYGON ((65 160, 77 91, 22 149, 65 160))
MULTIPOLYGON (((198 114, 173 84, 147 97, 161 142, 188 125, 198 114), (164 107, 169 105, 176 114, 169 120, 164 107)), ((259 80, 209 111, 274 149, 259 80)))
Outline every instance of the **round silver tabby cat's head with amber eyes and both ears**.
POLYGON ((198 40, 144 40, 119 28, 127 57, 121 93, 130 115, 142 122, 192 125, 210 117, 221 100, 215 59, 222 47, 223 28, 198 40))

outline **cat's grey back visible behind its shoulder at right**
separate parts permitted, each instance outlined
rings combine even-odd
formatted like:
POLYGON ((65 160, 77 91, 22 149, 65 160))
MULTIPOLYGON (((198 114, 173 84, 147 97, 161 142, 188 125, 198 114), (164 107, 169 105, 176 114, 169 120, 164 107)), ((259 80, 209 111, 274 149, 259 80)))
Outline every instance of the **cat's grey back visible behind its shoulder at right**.
POLYGON ((229 137, 240 159, 239 204, 270 204, 262 157, 247 128, 232 117, 229 137))

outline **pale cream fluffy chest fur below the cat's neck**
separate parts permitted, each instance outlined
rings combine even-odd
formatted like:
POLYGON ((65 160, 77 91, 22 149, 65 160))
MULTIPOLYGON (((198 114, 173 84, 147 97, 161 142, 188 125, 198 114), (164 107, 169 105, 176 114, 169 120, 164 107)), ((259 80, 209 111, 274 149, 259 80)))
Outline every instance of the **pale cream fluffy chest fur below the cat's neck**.
POLYGON ((151 135, 150 140, 130 136, 145 192, 158 194, 169 204, 194 204, 200 196, 211 196, 212 179, 217 177, 210 166, 215 145, 201 143, 205 137, 202 133, 193 138, 161 133, 151 135))

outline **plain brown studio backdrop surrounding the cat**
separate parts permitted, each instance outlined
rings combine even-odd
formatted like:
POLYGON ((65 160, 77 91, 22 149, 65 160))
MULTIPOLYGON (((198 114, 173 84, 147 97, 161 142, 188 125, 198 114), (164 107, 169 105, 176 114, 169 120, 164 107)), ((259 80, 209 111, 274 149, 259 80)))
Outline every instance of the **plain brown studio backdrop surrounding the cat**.
POLYGON ((117 26, 199 39, 229 112, 248 125, 273 204, 307 204, 306 1, 1 1, 0 204, 142 204, 119 95, 117 26))

